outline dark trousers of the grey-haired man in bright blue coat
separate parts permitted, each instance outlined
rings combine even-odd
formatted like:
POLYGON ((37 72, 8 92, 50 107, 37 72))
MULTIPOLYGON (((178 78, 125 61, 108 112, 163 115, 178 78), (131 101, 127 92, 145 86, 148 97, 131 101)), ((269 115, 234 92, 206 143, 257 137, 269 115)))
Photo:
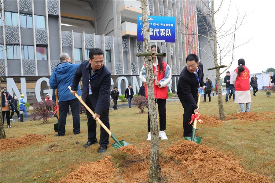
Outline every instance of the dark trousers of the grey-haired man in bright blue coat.
POLYGON ((69 106, 71 106, 71 113, 73 117, 73 127, 74 134, 80 133, 80 117, 79 117, 79 100, 71 99, 67 101, 59 101, 59 119, 58 119, 58 135, 64 135, 67 113, 69 111, 69 106))

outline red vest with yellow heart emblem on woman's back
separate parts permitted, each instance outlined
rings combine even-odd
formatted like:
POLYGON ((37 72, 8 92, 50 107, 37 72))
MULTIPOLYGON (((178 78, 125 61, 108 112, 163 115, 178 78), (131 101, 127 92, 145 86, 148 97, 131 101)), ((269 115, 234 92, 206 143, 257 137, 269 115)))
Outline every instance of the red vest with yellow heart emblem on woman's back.
MULTIPOLYGON (((250 83, 249 83, 249 70, 246 66, 244 67, 244 71, 241 72, 240 76, 237 76, 237 80, 235 82, 235 91, 247 91, 250 90, 250 83)), ((238 67, 239 68, 239 67, 238 67)), ((238 68, 235 71, 238 74, 238 68)))

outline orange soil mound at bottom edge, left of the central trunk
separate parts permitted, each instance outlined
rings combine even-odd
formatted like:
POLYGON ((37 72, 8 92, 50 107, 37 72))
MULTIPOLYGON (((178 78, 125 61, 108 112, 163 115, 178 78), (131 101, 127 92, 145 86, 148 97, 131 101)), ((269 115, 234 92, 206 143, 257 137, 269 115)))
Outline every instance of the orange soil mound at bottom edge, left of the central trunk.
POLYGON ((79 169, 72 171, 61 182, 66 183, 109 183, 116 180, 116 167, 110 161, 112 157, 106 156, 104 159, 85 163, 79 169))

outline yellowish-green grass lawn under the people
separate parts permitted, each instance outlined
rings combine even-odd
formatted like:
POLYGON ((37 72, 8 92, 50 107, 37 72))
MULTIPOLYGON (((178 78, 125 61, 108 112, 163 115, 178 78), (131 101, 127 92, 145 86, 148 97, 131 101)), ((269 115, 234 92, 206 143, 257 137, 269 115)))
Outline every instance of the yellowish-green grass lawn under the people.
MULTIPOLYGON (((225 95, 223 95, 225 98, 225 95)), ((275 93, 270 98, 266 92, 259 91, 257 97, 251 95, 251 112, 267 117, 266 121, 228 120, 223 124, 209 126, 198 124, 196 136, 202 136, 201 144, 229 155, 240 161, 244 170, 267 176, 270 181, 275 178, 274 156, 274 110, 275 93), (273 116, 261 114, 271 112, 273 116)), ((208 99, 207 99, 208 100, 208 99)), ((218 98, 212 97, 212 102, 201 102, 200 113, 218 115, 218 98)), ((225 99, 224 99, 225 100, 225 99)), ((237 112, 237 104, 230 100, 224 103, 226 115, 237 112)), ((146 112, 148 110, 146 109, 146 112)), ((160 151, 163 152, 170 145, 177 145, 183 140, 183 108, 179 101, 167 102, 167 141, 160 141, 160 151)), ((110 111, 110 127, 118 140, 140 146, 149 145, 147 141, 147 113, 128 107, 110 111)), ((0 151, 0 182, 58 182, 72 170, 78 169, 86 161, 97 161, 106 155, 112 156, 113 162, 118 163, 117 150, 108 146, 105 154, 97 154, 99 145, 82 148, 87 142, 86 116, 81 116, 81 133, 73 134, 72 117, 67 117, 66 135, 54 137, 53 123, 56 118, 50 119, 49 124, 26 121, 11 123, 12 128, 6 128, 7 138, 21 137, 25 134, 45 135, 44 141, 37 141, 31 145, 17 149, 0 151), (49 150, 50 145, 57 145, 49 150), (48 149, 47 149, 48 148, 48 149)), ((99 125, 97 125, 97 139, 99 141, 99 125)), ((113 143, 112 138, 109 139, 113 143)), ((0 147, 1 149, 1 147, 0 147)))

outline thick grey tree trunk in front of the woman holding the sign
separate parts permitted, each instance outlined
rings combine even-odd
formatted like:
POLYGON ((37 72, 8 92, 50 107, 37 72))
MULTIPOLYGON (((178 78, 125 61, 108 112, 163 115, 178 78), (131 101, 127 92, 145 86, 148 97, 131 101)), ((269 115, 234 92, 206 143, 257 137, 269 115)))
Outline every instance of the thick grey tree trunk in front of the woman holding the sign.
MULTIPOLYGON (((142 23, 143 23, 143 40, 145 52, 150 52, 150 35, 147 13, 147 0, 141 1, 142 23)), ((160 162, 159 162, 159 125, 156 113, 155 92, 153 82, 153 61, 151 57, 145 57, 146 64, 146 84, 148 96, 148 108, 151 125, 151 153, 150 153, 150 170, 149 182, 158 182, 160 178, 160 162)))

